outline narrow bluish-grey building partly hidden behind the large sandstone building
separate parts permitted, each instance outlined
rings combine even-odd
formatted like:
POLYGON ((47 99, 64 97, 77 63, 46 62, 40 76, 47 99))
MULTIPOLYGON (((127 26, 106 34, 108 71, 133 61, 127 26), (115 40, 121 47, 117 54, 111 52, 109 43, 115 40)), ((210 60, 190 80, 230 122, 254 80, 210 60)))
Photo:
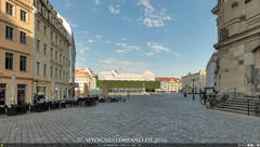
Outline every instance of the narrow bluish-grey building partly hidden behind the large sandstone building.
POLYGON ((218 53, 214 52, 210 57, 207 67, 206 67, 206 86, 214 88, 216 86, 216 69, 217 69, 217 59, 218 53))

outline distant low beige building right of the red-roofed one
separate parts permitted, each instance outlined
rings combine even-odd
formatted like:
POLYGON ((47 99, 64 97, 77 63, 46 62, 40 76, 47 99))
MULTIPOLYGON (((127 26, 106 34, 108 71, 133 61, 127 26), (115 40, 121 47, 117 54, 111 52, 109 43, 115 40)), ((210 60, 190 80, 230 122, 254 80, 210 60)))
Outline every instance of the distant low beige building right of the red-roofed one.
POLYGON ((196 74, 188 72, 187 76, 182 77, 182 90, 188 93, 199 93, 206 88, 206 71, 200 70, 196 74))

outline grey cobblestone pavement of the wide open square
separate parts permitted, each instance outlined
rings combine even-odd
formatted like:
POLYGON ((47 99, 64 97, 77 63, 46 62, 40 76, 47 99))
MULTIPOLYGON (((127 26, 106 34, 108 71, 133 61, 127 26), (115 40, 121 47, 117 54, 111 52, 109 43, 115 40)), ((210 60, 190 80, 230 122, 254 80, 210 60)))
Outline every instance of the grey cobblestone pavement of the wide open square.
POLYGON ((79 143, 91 137, 257 143, 260 118, 208 110, 198 101, 178 94, 131 96, 126 103, 0 116, 0 143, 79 143))

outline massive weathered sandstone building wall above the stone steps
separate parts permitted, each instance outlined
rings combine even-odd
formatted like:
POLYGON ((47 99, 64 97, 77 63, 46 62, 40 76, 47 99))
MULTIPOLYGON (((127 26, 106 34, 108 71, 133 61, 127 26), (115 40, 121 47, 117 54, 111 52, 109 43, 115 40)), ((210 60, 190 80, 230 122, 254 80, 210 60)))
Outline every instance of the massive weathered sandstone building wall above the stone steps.
POLYGON ((260 94, 260 1, 218 0, 217 89, 260 94))

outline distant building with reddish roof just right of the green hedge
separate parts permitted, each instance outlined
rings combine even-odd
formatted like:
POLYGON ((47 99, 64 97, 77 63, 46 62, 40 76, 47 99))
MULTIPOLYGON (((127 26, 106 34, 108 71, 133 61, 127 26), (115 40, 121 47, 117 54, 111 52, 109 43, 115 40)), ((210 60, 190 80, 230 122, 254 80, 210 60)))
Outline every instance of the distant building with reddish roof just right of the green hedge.
POLYGON ((160 81, 160 89, 157 92, 179 92, 181 89, 181 79, 179 78, 155 78, 155 81, 160 81))

